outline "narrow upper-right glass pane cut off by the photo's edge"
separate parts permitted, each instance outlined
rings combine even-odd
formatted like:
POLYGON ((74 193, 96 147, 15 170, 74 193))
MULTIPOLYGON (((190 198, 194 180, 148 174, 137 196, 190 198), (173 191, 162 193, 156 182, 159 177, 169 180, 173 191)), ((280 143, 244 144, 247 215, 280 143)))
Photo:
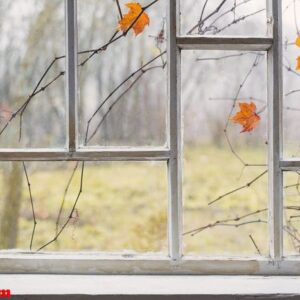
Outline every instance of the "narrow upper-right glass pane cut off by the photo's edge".
MULTIPOLYGON (((300 65, 297 69, 297 57, 300 56, 300 48, 296 45, 296 39, 300 36, 299 1, 283 2, 283 76, 284 76, 284 101, 283 101, 283 136, 284 156, 300 156, 300 104, 299 104, 299 76, 300 65)), ((299 61, 300 64, 300 61, 299 61)))

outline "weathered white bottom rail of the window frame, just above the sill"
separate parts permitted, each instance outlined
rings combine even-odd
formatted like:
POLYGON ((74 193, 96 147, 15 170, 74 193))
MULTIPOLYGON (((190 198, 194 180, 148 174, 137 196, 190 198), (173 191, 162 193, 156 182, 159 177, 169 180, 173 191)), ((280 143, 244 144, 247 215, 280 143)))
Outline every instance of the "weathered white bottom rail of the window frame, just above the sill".
POLYGON ((6 274, 193 274, 193 275, 299 275, 300 258, 275 263, 272 259, 183 257, 97 253, 0 252, 0 273, 6 274))

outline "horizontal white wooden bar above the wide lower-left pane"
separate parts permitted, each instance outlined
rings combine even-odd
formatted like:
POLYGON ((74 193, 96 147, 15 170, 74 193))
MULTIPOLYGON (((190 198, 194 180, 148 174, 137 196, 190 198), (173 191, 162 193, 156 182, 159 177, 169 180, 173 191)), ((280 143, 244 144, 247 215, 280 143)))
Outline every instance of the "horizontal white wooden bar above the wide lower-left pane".
POLYGON ((7 149, 0 152, 0 161, 127 161, 168 160, 170 151, 164 148, 102 148, 78 149, 7 149))

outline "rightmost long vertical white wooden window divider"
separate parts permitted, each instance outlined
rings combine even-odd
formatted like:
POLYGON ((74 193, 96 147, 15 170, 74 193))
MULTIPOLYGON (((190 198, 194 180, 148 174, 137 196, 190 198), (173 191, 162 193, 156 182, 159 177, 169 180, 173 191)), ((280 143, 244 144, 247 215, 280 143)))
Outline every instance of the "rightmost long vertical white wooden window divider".
POLYGON ((282 157, 282 10, 281 1, 268 0, 269 29, 273 45, 268 50, 268 169, 269 169, 269 246, 274 261, 283 255, 283 172, 282 157))

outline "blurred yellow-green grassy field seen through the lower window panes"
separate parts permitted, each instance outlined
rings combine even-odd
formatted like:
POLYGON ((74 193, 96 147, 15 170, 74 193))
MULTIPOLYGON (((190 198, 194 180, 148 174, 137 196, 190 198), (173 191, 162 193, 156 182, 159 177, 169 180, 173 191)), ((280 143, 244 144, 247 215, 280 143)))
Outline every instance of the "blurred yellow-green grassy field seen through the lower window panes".
MULTIPOLYGON (((239 149, 249 163, 264 163, 262 149, 239 149)), ((55 236, 56 219, 74 163, 28 163, 37 229, 34 249, 55 236)), ((218 220, 236 218, 267 207, 267 175, 248 188, 213 205, 218 196, 250 182, 265 167, 243 168, 226 147, 189 146, 184 156, 184 232, 218 220)), ((294 180, 291 178, 290 180, 294 180)), ((68 218, 80 185, 76 172, 61 218, 68 218)), ((167 253, 167 168, 165 163, 87 163, 83 193, 73 218, 57 242, 45 250, 167 253)), ((295 200, 297 201, 297 200, 295 200)), ((208 228, 184 235, 185 254, 257 254, 249 235, 263 255, 268 253, 266 213, 247 217, 230 226, 208 228), (233 226, 240 223, 240 226, 233 226)), ((28 249, 32 213, 23 183, 18 248, 28 249)))

